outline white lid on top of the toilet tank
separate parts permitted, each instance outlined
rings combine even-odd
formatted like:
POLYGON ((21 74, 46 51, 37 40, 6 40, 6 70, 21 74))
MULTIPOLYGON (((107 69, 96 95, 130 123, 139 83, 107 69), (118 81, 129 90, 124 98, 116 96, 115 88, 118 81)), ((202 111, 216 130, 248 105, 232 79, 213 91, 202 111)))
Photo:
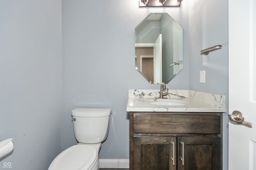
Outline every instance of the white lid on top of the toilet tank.
POLYGON ((111 109, 76 108, 72 110, 71 115, 77 117, 105 117, 109 116, 111 113, 111 109))

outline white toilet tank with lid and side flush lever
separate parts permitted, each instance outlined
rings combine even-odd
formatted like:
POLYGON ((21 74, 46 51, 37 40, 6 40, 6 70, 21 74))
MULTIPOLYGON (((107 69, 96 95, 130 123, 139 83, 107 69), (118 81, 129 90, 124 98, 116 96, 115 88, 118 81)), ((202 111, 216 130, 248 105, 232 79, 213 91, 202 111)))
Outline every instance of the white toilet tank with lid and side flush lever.
POLYGON ((72 110, 74 133, 80 143, 101 143, 109 130, 111 109, 76 108, 72 110))

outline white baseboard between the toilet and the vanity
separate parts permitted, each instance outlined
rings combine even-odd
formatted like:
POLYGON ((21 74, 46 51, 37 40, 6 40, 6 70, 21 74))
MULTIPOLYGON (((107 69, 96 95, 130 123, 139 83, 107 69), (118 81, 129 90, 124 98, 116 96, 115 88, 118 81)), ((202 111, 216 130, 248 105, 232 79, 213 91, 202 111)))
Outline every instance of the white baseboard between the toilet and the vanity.
POLYGON ((100 168, 129 168, 129 159, 99 159, 100 168))

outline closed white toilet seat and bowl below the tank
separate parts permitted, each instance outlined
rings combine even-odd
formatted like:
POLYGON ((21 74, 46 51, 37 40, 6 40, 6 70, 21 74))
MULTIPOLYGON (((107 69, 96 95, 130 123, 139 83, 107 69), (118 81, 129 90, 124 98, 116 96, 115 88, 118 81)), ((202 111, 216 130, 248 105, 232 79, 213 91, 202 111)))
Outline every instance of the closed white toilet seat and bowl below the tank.
MULTIPOLYGON (((48 170, 92 170, 98 160, 96 147, 74 145, 61 152, 50 164, 48 170)), ((97 168, 96 168, 97 169, 97 168)))

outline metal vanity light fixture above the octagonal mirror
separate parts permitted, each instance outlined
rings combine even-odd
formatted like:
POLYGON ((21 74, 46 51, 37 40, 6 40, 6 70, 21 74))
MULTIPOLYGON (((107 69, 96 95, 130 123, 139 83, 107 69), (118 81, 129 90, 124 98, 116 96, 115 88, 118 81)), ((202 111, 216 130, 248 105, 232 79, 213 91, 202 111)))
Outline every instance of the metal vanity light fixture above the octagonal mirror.
POLYGON ((139 7, 180 6, 182 0, 139 0, 139 7))

